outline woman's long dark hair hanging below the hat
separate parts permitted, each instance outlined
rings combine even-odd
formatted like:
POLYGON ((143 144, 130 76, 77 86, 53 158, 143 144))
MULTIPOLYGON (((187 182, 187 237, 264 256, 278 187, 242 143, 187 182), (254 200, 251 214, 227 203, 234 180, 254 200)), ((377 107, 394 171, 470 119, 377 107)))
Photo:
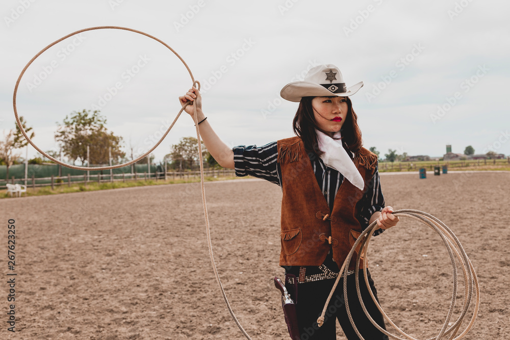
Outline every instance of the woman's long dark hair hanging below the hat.
MULTIPOLYGON (((319 150, 319 143, 317 141, 317 133, 315 132, 315 129, 318 129, 325 134, 328 134, 328 132, 317 126, 314 110, 312 108, 313 98, 314 97, 301 98, 296 115, 292 121, 292 125, 294 133, 303 140, 304 149, 307 153, 313 152, 320 156, 323 152, 319 150)), ((352 102, 350 98, 345 97, 345 99, 347 100, 348 111, 341 129, 342 145, 346 150, 356 152, 363 145, 361 130, 358 126, 358 116, 356 116, 356 113, 352 109, 352 102)))

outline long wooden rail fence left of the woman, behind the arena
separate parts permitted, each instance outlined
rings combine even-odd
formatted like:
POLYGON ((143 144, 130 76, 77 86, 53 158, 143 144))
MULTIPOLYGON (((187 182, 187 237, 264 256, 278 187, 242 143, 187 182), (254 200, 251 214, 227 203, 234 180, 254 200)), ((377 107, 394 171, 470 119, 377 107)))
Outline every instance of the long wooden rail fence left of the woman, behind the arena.
MULTIPOLYGON (((233 169, 219 169, 219 170, 204 170, 205 177, 225 177, 235 176, 236 172, 233 169)), ((175 179, 192 179, 200 178, 200 171, 184 171, 184 172, 153 172, 153 173, 119 173, 119 174, 83 174, 77 176, 54 176, 51 177, 35 177, 32 178, 13 178, 10 180, 12 184, 23 184, 27 188, 48 187, 51 186, 52 190, 55 186, 71 184, 85 184, 91 182, 104 183, 104 182, 117 182, 129 180, 175 180, 175 179)), ((7 189, 7 186, 1 186, 0 189, 7 189)))

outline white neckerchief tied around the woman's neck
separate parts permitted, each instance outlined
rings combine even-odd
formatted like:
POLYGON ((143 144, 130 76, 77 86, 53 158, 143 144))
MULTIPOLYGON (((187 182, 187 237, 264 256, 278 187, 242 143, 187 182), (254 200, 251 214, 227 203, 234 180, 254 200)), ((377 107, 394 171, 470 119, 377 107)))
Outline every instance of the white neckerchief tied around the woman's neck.
MULTIPOLYGON (((320 156, 324 164, 339 171, 356 188, 363 190, 365 181, 354 165, 354 162, 352 162, 349 155, 347 154, 347 151, 342 146, 342 141, 335 140, 323 134, 317 129, 315 131, 317 132, 319 149, 324 152, 322 156, 320 156)), ((340 138, 340 131, 336 132, 334 137, 340 138)))

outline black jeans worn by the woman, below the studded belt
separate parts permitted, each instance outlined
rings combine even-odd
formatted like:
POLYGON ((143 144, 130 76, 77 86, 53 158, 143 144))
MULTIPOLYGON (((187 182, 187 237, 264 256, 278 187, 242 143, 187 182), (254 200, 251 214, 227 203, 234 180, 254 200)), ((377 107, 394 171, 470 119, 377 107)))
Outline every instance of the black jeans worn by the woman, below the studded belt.
MULTIPOLYGON (((375 306, 370 293, 368 292, 367 285, 363 276, 363 270, 360 270, 360 291, 363 298, 365 307, 367 308, 372 319, 382 328, 386 329, 384 319, 380 311, 375 306)), ((370 287, 374 296, 377 298, 377 291, 374 287, 374 281, 370 277, 367 270, 370 287)), ((319 327, 317 318, 320 316, 324 304, 335 279, 306 282, 298 284, 297 291, 297 318, 300 328, 301 340, 334 340, 336 336, 336 321, 338 319, 340 326, 344 331, 345 336, 349 340, 359 340, 358 335, 354 332, 352 325, 347 316, 347 310, 344 302, 343 295, 343 278, 340 279, 337 289, 329 301, 326 314, 324 316, 324 324, 319 327)), ((361 335, 366 340, 388 340, 388 336, 380 332, 370 322, 361 307, 356 293, 355 275, 347 276, 347 297, 349 303, 349 310, 354 320, 354 324, 361 335)), ((377 300, 379 301, 379 300, 377 300)))

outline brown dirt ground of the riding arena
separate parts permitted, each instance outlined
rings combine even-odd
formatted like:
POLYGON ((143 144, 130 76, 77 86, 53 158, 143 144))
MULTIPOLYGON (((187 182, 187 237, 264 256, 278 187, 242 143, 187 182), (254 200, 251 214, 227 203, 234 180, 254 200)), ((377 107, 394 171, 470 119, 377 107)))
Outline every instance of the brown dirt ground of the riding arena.
MULTIPOLYGON (((481 303, 465 339, 510 333, 509 184, 510 172, 381 174, 387 205, 438 217, 472 260, 481 303)), ((216 264, 238 319, 253 339, 288 339, 272 283, 283 275, 281 190, 239 179, 207 183, 206 191, 216 264)), ((200 197, 198 184, 184 184, 3 199, 0 338, 244 338, 211 269, 200 197), (14 334, 6 315, 8 219, 16 228, 14 334)), ((446 319, 452 291, 446 256, 433 231, 406 218, 369 248, 382 307, 420 339, 437 335, 446 319)))

